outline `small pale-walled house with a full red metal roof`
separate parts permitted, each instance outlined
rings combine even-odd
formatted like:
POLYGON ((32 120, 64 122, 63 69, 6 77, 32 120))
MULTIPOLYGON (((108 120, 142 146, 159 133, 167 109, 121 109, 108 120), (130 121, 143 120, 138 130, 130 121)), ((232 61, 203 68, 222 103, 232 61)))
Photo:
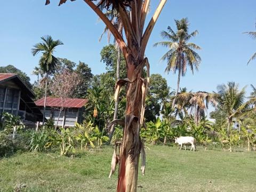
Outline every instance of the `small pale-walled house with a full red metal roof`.
MULTIPOLYGON (((62 127, 75 126, 76 122, 83 122, 84 105, 87 101, 87 99, 61 99, 46 97, 45 118, 53 119, 54 125, 58 122, 58 126, 62 127)), ((44 98, 37 100, 35 103, 43 113, 44 98)))

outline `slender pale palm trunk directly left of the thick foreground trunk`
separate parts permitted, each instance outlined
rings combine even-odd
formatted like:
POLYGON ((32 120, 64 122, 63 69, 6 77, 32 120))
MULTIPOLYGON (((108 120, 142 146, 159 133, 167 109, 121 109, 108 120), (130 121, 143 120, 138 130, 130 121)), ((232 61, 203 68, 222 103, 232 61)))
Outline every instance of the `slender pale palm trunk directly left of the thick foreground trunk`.
MULTIPOLYGON (((119 81, 119 79, 120 79, 120 63, 121 63, 121 49, 119 46, 117 46, 117 62, 116 62, 116 79, 117 79, 117 81, 119 81)), ((119 98, 117 98, 117 100, 115 101, 115 111, 114 111, 113 120, 115 120, 117 118, 118 102, 119 102, 119 98)), ((109 142, 111 142, 114 131, 115 131, 115 124, 113 124, 111 126, 111 129, 110 129, 110 132, 108 135, 109 142)))

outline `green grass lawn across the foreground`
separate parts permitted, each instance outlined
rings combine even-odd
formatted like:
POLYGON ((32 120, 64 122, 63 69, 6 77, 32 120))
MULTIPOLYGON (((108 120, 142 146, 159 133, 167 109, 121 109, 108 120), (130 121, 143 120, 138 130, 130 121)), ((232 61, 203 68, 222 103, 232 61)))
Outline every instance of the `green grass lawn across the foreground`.
MULTIPOLYGON (((115 191, 112 147, 75 157, 24 153, 0 159, 0 191, 115 191), (22 187, 23 186, 23 187, 22 187), (26 186, 26 187, 25 187, 26 186)), ((256 154, 148 146, 138 191, 256 191, 256 154)))

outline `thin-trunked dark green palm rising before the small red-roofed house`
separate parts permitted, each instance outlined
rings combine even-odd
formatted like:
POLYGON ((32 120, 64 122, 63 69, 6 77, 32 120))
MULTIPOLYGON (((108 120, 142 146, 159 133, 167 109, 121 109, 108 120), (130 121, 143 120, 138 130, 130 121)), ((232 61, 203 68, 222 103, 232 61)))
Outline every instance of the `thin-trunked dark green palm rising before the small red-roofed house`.
POLYGON ((43 113, 43 125, 45 119, 45 108, 46 108, 46 97, 47 97, 47 79, 50 74, 54 73, 55 67, 59 63, 59 59, 53 56, 55 47, 58 45, 63 45, 63 43, 58 40, 53 40, 50 35, 41 37, 43 40, 41 43, 34 45, 31 49, 31 53, 35 56, 37 53, 42 52, 42 56, 39 59, 39 68, 45 74, 45 92, 44 92, 44 113, 43 113))

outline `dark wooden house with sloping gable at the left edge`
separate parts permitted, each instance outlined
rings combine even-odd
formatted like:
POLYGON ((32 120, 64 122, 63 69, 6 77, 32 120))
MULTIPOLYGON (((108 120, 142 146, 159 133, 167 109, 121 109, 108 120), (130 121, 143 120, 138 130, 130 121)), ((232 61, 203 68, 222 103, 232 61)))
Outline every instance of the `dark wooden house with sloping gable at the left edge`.
POLYGON ((25 123, 42 121, 43 114, 35 105, 34 98, 33 91, 17 74, 0 73, 0 116, 7 112, 20 116, 25 123))

